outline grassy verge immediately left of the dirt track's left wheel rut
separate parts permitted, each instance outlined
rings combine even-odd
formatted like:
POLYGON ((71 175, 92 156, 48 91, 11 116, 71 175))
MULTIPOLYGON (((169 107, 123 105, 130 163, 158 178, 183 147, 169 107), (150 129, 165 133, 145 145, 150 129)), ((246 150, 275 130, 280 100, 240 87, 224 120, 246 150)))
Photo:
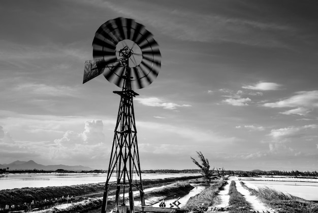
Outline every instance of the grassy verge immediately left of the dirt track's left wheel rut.
POLYGON ((218 202, 218 192, 225 184, 227 184, 227 181, 212 182, 210 187, 190 198, 184 208, 189 211, 206 211, 209 206, 218 202))

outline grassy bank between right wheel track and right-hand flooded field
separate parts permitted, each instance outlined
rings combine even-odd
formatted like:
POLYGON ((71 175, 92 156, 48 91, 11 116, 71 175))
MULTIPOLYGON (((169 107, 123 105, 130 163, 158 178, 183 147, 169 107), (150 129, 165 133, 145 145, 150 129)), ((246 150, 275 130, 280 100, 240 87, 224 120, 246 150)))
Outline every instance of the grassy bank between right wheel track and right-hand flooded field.
POLYGON ((278 213, 316 213, 318 212, 318 204, 295 197, 286 195, 282 192, 269 188, 260 188, 258 190, 250 189, 241 182, 242 186, 249 190, 252 195, 260 198, 264 203, 276 209, 278 213))

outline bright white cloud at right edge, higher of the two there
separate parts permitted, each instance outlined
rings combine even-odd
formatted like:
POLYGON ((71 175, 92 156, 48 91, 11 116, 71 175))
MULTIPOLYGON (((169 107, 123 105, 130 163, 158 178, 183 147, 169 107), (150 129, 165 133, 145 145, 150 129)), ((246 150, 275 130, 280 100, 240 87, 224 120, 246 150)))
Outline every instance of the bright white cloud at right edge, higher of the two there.
POLYGON ((299 91, 287 99, 272 103, 264 103, 263 106, 269 108, 296 108, 282 112, 281 114, 307 115, 313 108, 318 108, 318 90, 299 91))

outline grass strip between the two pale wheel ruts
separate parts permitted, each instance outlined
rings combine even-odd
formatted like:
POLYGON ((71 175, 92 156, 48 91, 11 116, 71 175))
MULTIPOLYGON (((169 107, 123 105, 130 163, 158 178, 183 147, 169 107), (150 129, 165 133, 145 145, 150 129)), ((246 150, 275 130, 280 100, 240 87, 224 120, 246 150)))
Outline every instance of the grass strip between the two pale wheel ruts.
POLYGON ((229 213, 250 213, 251 207, 245 200, 244 196, 239 193, 236 189, 235 181, 231 181, 229 190, 230 200, 229 200, 229 213))

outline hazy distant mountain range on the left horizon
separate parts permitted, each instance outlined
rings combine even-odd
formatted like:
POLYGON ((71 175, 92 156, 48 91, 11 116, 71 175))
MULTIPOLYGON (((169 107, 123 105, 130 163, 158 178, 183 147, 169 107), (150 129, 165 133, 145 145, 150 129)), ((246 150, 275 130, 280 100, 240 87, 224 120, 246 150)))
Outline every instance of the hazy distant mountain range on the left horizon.
POLYGON ((15 161, 10 164, 0 164, 0 168, 7 168, 9 167, 9 170, 45 170, 45 171, 55 171, 57 169, 63 169, 63 170, 69 170, 69 171, 89 171, 94 170, 90 167, 84 167, 84 166, 67 166, 67 165, 42 165, 37 164, 34 161, 15 161))

